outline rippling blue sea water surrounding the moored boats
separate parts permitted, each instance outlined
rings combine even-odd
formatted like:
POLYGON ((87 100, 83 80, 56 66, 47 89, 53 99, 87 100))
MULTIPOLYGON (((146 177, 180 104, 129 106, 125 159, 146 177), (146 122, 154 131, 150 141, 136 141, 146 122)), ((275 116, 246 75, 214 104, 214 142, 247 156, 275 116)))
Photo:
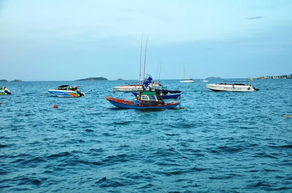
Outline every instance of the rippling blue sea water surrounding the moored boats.
POLYGON ((184 109, 159 111, 106 101, 133 99, 112 93, 124 81, 2 82, 0 192, 292 192, 292 79, 242 93, 198 81, 163 80, 184 109), (86 96, 49 95, 62 84, 86 96))

